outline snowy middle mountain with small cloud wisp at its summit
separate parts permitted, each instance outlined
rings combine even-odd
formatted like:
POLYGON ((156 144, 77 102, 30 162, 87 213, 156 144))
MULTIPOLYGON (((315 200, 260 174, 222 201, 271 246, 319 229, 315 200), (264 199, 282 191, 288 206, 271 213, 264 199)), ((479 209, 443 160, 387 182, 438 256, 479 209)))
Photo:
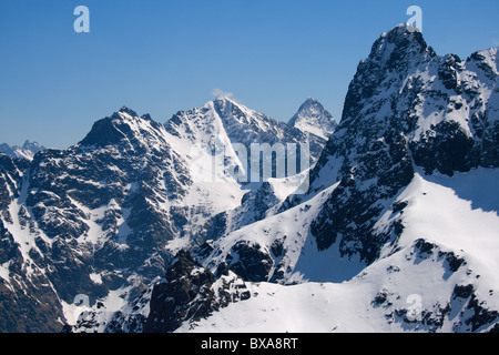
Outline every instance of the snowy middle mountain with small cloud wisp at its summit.
MULTIPOLYGON (((314 114, 317 112, 317 108, 320 108, 319 113, 324 116, 324 120, 333 120, 320 103, 315 100, 307 102, 302 105, 303 109, 299 111, 299 120, 303 124, 307 120, 313 122, 313 124, 316 123, 314 114)), ((281 191, 288 190, 288 193, 291 193, 299 186, 299 182, 303 179, 306 179, 303 178, 298 182, 289 179, 273 179, 263 182, 259 179, 262 174, 258 174, 258 181, 253 181, 251 175, 252 166, 249 164, 253 143, 259 145, 268 144, 271 148, 295 144, 297 151, 301 151, 298 146, 301 143, 308 144, 307 152, 309 152, 309 156, 305 152, 302 160, 307 159, 309 164, 315 162, 326 144, 326 141, 320 136, 276 121, 225 97, 218 97, 200 109, 179 112, 165 123, 165 126, 170 134, 169 141, 174 142, 172 145, 177 151, 183 151, 183 156, 186 160, 191 160, 190 164, 201 168, 201 171, 211 172, 212 152, 223 154, 223 161, 218 163, 220 169, 215 171, 215 179, 210 174, 206 176, 200 171, 193 174, 197 176, 200 184, 207 182, 208 184, 205 186, 213 186, 221 195, 214 197, 213 193, 205 193, 203 196, 196 194, 191 201, 205 201, 206 204, 216 206, 216 201, 231 201, 234 200, 233 196, 237 196, 235 200, 242 202, 232 206, 224 205, 223 209, 218 209, 213 217, 200 220, 196 223, 196 231, 191 230, 191 233, 200 234, 200 241, 217 237, 221 234, 264 219, 269 207, 287 196, 278 195, 279 193, 275 191, 276 189, 281 191), (193 146, 195 148, 194 150, 193 146), (241 150, 244 154, 241 154, 241 150), (206 155, 208 159, 200 159, 200 156, 206 158, 206 155), (233 173, 234 166, 240 169, 238 174, 233 173), (215 184, 211 183, 213 180, 215 180, 215 184), (231 184, 221 187, 221 182, 231 182, 231 184), (238 184, 243 185, 243 189, 245 189, 244 197, 238 193, 234 193, 234 189, 230 187, 234 186, 234 183, 237 186, 238 184), (224 191, 231 192, 230 195, 224 196, 224 191), (206 200, 203 199, 204 196, 206 196, 206 200)), ((301 153, 297 154, 299 155, 301 153)), ((309 164, 306 161, 302 162, 302 160, 299 163, 296 163, 296 170, 297 172, 303 170, 305 176, 308 173, 309 164)), ((273 169, 275 175, 275 165, 273 169)))

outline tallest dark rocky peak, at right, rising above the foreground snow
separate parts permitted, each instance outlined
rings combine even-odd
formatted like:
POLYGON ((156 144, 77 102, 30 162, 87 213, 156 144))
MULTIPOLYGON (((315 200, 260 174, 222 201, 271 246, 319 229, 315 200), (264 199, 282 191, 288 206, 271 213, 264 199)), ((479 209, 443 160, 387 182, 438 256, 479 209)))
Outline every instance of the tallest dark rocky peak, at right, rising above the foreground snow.
POLYGON ((406 185, 414 166, 449 176, 496 168, 496 53, 479 51, 461 61, 436 55, 408 26, 384 33, 349 84, 342 121, 310 171, 309 194, 357 181, 359 196, 367 196, 361 181, 378 179, 387 166, 384 184, 390 189, 406 185), (385 168, 374 168, 381 162, 385 168))

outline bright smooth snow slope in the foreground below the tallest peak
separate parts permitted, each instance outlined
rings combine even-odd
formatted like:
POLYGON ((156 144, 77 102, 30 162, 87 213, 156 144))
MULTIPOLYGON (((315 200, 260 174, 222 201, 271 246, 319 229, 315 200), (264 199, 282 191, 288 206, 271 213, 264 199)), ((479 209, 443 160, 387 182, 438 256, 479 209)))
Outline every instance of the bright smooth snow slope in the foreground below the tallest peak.
MULTIPOLYGON (((487 169, 455 178, 416 174, 393 204, 408 206, 404 212, 388 207, 376 225, 383 230, 389 227, 391 220, 399 219, 405 230, 397 243, 387 244, 376 262, 357 267, 358 273, 346 276, 344 282, 339 282, 337 272, 355 268, 352 267, 358 266, 355 261, 340 264, 337 255, 317 252, 312 234, 297 246, 293 240, 296 236, 286 234, 284 254, 302 254, 299 258, 305 260, 294 267, 295 276, 299 277, 289 277, 301 280, 298 285, 246 283, 255 295, 251 300, 231 304, 196 322, 194 327, 190 324, 189 328, 177 331, 497 331, 499 243, 495 236, 499 205, 483 193, 475 194, 473 202, 465 200, 475 190, 468 185, 470 181, 492 187, 497 186, 499 175, 497 170, 487 169)), ((313 201, 310 204, 312 210, 313 201)), ((279 217, 281 223, 284 217, 279 217)), ((306 220, 286 225, 297 235, 303 222, 306 220)), ((277 225, 268 223, 268 230, 264 230, 263 223, 258 225, 261 229, 255 225, 252 241, 261 243, 261 250, 272 248, 287 233, 277 230, 277 225)))

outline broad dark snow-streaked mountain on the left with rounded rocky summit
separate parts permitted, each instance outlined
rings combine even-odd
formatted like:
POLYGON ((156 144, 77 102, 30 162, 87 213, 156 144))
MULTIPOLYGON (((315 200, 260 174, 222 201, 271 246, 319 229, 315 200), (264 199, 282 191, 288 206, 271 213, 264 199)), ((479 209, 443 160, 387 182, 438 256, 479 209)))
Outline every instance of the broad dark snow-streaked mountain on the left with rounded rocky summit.
MULTIPOLYGON (((126 287, 164 272, 165 244, 183 222, 171 203, 191 183, 164 136, 162 124, 122 108, 95 122, 79 144, 42 151, 13 170, 16 180, 7 179, 14 183, 6 186, 2 225, 19 266, 2 263, 2 283, 12 300, 29 292, 50 304, 50 293, 57 304, 48 315, 50 331, 62 328, 77 296, 88 295, 92 305, 110 292, 126 297, 126 287)), ((16 317, 20 310, 8 312, 16 317)), ((34 306, 30 312, 38 314, 34 306)))

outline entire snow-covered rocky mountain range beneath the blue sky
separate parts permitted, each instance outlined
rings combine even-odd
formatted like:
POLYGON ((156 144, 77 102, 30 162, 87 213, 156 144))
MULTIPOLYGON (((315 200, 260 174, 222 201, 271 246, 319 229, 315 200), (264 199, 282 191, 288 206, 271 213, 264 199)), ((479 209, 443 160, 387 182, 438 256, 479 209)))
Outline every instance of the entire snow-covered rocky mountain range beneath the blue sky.
POLYGON ((339 123, 312 98, 285 123, 221 95, 6 146, 0 331, 498 332, 497 54, 438 55, 399 24, 339 123), (242 181, 253 143, 307 144, 309 164, 242 181))

